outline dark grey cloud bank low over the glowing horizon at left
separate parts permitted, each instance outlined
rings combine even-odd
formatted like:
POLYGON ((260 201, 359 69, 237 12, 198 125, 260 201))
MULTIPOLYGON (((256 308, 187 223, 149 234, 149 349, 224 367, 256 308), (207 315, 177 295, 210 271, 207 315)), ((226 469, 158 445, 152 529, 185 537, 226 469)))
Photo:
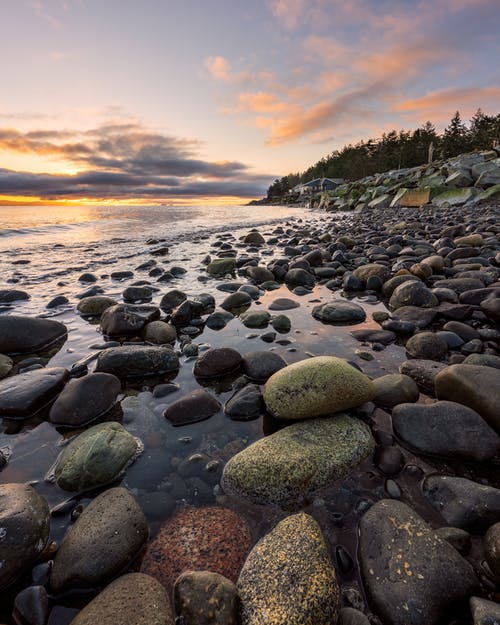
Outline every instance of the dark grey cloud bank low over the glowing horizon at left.
POLYGON ((72 164, 78 173, 55 175, 0 170, 0 194, 64 199, 258 197, 272 176, 237 161, 197 158, 197 141, 154 132, 140 124, 107 124, 87 131, 0 128, 0 151, 36 154, 72 164))

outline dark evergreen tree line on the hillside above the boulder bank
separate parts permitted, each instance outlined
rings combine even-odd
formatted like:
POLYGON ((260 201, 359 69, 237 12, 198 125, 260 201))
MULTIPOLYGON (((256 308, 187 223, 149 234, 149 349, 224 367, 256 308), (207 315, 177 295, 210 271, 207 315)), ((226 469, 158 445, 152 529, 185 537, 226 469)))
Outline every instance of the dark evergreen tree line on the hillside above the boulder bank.
POLYGON ((442 134, 436 132, 434 124, 426 122, 416 130, 391 130, 379 139, 345 145, 302 173, 277 178, 267 191, 267 199, 280 197, 295 185, 315 178, 357 180, 389 169, 423 165, 428 161, 431 144, 436 160, 488 149, 494 142, 500 142, 500 113, 486 115, 478 109, 467 125, 457 111, 442 134))

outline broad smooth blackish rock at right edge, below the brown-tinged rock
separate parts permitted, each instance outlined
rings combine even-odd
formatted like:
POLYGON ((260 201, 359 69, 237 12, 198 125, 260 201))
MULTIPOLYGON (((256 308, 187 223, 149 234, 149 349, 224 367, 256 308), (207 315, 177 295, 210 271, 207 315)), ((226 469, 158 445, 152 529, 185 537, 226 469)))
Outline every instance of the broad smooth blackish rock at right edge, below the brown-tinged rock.
POLYGON ((500 438, 477 412, 455 402, 400 404, 392 423, 405 444, 424 454, 481 462, 500 450, 500 438))

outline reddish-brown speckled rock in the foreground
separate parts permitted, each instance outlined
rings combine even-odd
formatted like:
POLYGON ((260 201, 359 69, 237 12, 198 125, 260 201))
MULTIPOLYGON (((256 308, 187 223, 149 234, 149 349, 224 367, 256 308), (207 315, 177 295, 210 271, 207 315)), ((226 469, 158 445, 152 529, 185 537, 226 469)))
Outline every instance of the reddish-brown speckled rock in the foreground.
POLYGON ((149 543, 141 571, 170 591, 184 571, 212 571, 235 582, 252 545, 246 521, 227 508, 185 508, 149 543))

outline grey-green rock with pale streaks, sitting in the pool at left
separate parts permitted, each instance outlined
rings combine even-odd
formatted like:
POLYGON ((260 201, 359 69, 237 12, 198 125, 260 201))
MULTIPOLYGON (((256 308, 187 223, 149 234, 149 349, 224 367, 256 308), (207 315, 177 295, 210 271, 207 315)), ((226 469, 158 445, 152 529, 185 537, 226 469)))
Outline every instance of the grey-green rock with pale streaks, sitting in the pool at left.
POLYGON ((64 448, 55 469, 57 485, 82 491, 112 482, 138 452, 138 441, 114 421, 78 434, 64 448))

